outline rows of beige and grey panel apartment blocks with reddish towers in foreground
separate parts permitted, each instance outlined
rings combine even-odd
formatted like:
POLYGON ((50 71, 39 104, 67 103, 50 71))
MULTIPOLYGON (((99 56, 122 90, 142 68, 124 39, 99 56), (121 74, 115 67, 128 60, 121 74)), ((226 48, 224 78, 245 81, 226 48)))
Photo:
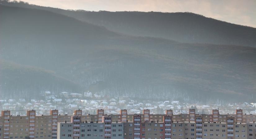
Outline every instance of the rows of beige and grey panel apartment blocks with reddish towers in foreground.
POLYGON ((97 110, 94 115, 60 115, 51 110, 50 115, 27 111, 26 116, 12 116, 11 111, 2 111, 0 116, 0 139, 256 139, 255 115, 236 114, 199 115, 194 109, 188 114, 120 114, 106 115, 97 110))

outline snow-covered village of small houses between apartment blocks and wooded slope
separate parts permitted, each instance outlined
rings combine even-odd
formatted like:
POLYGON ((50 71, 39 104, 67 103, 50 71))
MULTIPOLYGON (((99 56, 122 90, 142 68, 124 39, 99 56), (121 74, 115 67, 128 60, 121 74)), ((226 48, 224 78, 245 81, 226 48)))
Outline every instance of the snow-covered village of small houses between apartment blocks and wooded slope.
POLYGON ((36 110, 38 115, 49 114, 49 110, 58 109, 60 114, 73 114, 81 109, 83 114, 96 114, 97 109, 105 109, 106 114, 119 114, 120 109, 128 113, 141 114, 143 109, 149 109, 151 114, 163 114, 166 109, 172 109, 174 114, 188 113, 189 108, 195 108, 196 113, 209 114, 212 109, 219 109, 221 114, 232 114, 234 109, 243 109, 246 114, 256 114, 256 103, 227 103, 227 104, 190 104, 176 100, 149 101, 133 100, 128 97, 108 98, 92 92, 68 93, 58 95, 45 91, 40 99, 0 99, 2 110, 11 110, 16 115, 25 115, 26 110, 36 110))

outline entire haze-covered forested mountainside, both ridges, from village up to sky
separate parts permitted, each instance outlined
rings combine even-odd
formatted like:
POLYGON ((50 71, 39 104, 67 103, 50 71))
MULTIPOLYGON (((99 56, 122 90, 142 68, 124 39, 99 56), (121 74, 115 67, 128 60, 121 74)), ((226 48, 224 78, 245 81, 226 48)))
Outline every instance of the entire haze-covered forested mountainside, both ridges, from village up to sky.
POLYGON ((230 101, 256 97, 255 28, 191 13, 61 12, 5 5, 0 5, 4 97, 46 90, 205 102, 219 95, 230 101), (140 21, 128 18, 144 15, 140 21), (151 16, 164 24, 150 22, 151 16), (175 22, 167 26, 165 16, 175 22), (5 70, 6 65, 14 70, 5 70))

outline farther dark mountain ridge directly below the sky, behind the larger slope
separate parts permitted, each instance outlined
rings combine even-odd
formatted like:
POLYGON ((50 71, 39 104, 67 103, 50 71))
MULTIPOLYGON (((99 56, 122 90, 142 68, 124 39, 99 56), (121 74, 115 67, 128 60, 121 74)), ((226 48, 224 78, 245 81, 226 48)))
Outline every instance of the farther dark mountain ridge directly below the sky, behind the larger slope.
POLYGON ((184 43, 226 44, 256 47, 256 28, 206 18, 194 13, 70 11, 29 5, 24 2, 3 2, 52 11, 75 19, 104 26, 110 31, 132 36, 150 36, 184 43))

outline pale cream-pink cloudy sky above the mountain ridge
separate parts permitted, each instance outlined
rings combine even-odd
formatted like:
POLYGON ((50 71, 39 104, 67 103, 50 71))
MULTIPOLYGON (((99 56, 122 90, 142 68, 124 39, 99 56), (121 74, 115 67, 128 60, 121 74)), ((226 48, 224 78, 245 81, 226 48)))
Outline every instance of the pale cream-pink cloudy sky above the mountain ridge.
POLYGON ((87 11, 193 12, 256 27, 256 0, 21 0, 41 6, 87 11))

